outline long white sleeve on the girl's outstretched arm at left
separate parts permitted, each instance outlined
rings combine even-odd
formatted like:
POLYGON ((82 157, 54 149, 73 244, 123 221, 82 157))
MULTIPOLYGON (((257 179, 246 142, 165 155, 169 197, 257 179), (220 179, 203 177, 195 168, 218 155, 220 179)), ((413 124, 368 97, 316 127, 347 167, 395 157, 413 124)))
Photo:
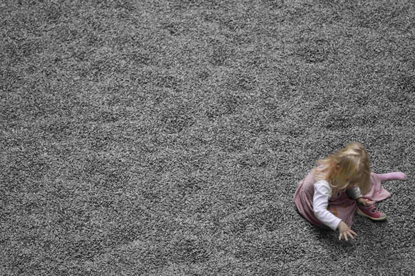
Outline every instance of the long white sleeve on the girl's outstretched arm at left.
POLYGON ((315 217, 322 221, 323 224, 329 226, 332 230, 336 230, 340 221, 338 217, 335 217, 327 210, 329 205, 329 198, 331 197, 331 188, 329 182, 319 180, 314 184, 314 197, 313 197, 313 212, 315 217))

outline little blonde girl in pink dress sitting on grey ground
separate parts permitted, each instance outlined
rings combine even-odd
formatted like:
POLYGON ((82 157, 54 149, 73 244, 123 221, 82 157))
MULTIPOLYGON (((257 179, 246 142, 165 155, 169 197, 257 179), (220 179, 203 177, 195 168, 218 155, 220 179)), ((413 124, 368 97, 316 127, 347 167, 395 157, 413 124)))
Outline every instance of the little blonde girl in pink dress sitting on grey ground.
POLYGON ((294 201, 299 213, 312 224, 339 230, 339 240, 354 239, 351 226, 355 212, 369 219, 382 220, 386 215, 376 210, 375 202, 391 194, 381 181, 405 180, 403 172, 377 175, 370 172, 369 157, 360 143, 353 142, 324 159, 299 181, 294 201))

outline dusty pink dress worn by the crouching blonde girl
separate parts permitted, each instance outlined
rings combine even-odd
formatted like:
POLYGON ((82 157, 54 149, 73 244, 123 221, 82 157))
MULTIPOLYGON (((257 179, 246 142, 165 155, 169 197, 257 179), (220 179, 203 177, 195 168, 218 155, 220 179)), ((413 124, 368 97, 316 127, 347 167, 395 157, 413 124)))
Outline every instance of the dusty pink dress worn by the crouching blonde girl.
MULTIPOLYGON (((315 182, 317 181, 314 179, 313 170, 308 172, 308 175, 299 181, 294 195, 295 206, 297 206, 299 213, 312 224, 328 228, 319 219, 317 219, 313 213, 313 184, 315 184, 315 182)), ((371 182, 371 190, 366 195, 363 195, 364 198, 378 202, 391 196, 387 190, 382 188, 380 185, 380 178, 374 172, 371 172, 371 182)), ((332 195, 327 206, 327 210, 329 210, 336 217, 342 219, 342 221, 349 225, 349 227, 353 224, 353 217, 357 208, 358 206, 356 204, 356 200, 349 198, 347 193, 344 191, 340 191, 339 193, 332 195)))

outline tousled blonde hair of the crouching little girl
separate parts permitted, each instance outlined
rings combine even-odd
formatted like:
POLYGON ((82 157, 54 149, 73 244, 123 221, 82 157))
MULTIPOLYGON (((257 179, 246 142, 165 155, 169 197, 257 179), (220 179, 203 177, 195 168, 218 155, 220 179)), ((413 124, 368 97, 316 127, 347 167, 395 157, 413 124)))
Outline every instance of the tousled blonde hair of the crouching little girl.
POLYGON ((338 152, 317 160, 314 179, 328 181, 336 191, 357 186, 362 195, 369 193, 370 161, 365 147, 352 142, 338 152))

